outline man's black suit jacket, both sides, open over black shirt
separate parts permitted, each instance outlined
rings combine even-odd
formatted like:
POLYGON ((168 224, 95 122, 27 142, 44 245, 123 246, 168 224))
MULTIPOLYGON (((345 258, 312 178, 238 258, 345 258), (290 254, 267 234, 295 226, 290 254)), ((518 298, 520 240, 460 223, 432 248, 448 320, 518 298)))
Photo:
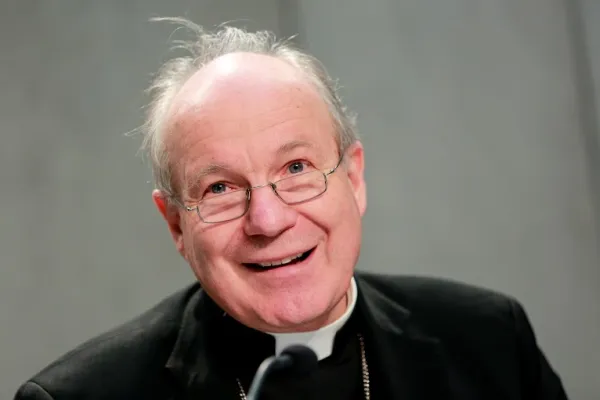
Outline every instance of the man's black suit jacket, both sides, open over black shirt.
MULTIPOLYGON (((355 277, 374 400, 567 398, 514 299, 442 279, 355 277)), ((194 284, 67 353, 15 399, 235 399, 203 346, 209 304, 194 284)))

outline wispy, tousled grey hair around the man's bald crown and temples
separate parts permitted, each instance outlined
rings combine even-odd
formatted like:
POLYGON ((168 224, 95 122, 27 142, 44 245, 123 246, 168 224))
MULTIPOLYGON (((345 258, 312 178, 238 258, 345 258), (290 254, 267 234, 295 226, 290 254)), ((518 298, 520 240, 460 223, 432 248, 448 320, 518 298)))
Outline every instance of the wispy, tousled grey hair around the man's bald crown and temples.
POLYGON ((172 165, 164 145, 165 124, 171 103, 183 84, 195 72, 220 56, 229 53, 256 53, 276 57, 301 70, 312 83, 330 110, 340 155, 358 139, 355 117, 343 105, 337 82, 313 56, 295 48, 290 40, 278 40, 272 32, 248 32, 231 26, 220 26, 208 32, 183 18, 154 18, 186 28, 191 40, 173 41, 174 49, 183 49, 186 55, 167 61, 148 88, 150 103, 141 127, 141 150, 149 158, 154 184, 167 198, 176 199, 172 182, 172 165))

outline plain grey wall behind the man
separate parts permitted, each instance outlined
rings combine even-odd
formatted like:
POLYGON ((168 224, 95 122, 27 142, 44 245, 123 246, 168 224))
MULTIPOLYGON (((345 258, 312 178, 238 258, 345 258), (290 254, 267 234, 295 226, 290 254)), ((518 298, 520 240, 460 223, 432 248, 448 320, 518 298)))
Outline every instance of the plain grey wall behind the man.
POLYGON ((33 1, 0 6, 0 397, 193 279, 135 157, 172 27, 299 33, 359 113, 360 269, 518 297, 573 399, 600 399, 600 4, 33 1), (583 11, 583 12, 581 12, 583 11))

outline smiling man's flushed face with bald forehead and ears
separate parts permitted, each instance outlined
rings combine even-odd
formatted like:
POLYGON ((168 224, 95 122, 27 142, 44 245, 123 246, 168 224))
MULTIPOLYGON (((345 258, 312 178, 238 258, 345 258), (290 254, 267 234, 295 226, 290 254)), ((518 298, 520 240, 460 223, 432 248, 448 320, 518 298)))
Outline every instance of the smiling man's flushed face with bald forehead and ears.
MULTIPOLYGON (((221 57, 186 82, 171 111, 166 143, 188 205, 326 171, 340 159, 324 102, 296 70, 270 57, 221 57)), ((296 205, 270 186, 254 189, 247 213, 223 223, 202 222, 157 192, 154 199, 178 250, 224 311, 262 331, 311 330, 346 308, 366 208, 360 143, 327 178, 323 195, 296 205), (257 265, 300 254, 290 265, 257 265)))

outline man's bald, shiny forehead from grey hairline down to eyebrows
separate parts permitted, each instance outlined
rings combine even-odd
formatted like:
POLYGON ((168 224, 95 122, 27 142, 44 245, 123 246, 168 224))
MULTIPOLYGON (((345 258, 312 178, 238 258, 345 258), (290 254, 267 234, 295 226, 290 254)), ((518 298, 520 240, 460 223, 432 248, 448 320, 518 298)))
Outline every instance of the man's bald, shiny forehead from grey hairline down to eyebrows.
POLYGON ((230 55, 192 76, 173 101, 170 128, 170 154, 181 163, 267 156, 292 141, 335 151, 330 113, 313 85, 261 55, 230 55))

